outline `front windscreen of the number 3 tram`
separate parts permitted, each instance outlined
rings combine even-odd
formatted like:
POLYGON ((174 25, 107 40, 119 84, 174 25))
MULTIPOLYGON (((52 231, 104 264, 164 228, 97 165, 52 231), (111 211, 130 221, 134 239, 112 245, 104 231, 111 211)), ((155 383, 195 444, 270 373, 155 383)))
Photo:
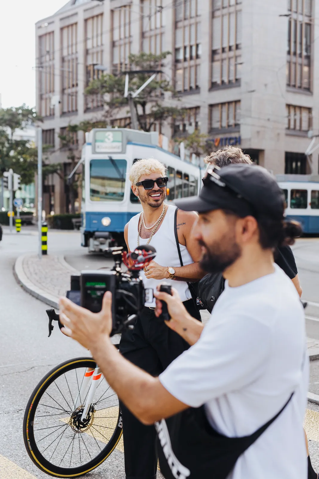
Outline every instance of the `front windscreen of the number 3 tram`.
POLYGON ((122 201, 124 198, 126 160, 90 161, 90 199, 122 201))

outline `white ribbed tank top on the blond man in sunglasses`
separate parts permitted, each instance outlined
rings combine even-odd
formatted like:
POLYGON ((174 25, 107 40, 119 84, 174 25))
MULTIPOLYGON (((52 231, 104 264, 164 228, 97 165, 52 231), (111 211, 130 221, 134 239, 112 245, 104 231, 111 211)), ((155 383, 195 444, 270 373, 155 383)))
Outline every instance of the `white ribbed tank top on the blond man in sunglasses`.
MULTIPOLYGON (((174 216, 176 207, 173 205, 166 205, 167 211, 165 218, 162 221, 160 228, 156 231, 153 238, 149 242, 156 250, 156 256, 154 261, 160 264, 161 266, 173 266, 180 267, 181 263, 179 261, 175 234, 174 234, 174 216)), ((128 227, 128 242, 130 251, 134 251, 137 247, 137 236, 138 236, 138 224, 141 213, 133 216, 129 221, 128 227)), ((146 244, 148 239, 140 238, 140 245, 146 244)), ((186 246, 182 244, 179 245, 183 265, 191 264, 193 262, 189 252, 187 251, 186 246)), ((143 270, 141 271, 141 276, 143 278, 143 284, 145 288, 153 288, 156 291, 156 286, 159 283, 166 283, 172 285, 177 291, 182 301, 187 301, 191 298, 190 291, 188 289, 187 283, 184 281, 174 281, 172 279, 158 280, 158 279, 147 279, 143 270)), ((154 308, 155 299, 153 303, 145 303, 145 306, 154 308)))

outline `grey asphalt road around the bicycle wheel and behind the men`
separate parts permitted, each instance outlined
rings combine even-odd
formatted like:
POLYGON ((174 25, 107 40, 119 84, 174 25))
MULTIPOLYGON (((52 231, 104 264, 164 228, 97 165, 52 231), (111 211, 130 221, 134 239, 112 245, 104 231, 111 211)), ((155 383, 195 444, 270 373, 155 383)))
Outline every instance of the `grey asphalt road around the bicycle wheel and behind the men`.
MULTIPOLYGON (((48 233, 48 251, 64 255, 78 270, 110 266, 111 260, 89 255, 80 246, 76 231, 48 233)), ((47 477, 30 461, 23 445, 22 420, 26 403, 40 379, 55 365, 88 352, 55 328, 47 338, 46 306, 25 293, 15 282, 12 268, 22 253, 37 252, 35 228, 22 228, 19 235, 5 228, 0 242, 0 479, 47 477)), ((294 246, 303 298, 311 304, 306 314, 309 337, 319 339, 319 239, 300 239, 294 246)), ((309 390, 319 394, 319 361, 311 363, 309 390)), ((311 424, 310 453, 319 470, 319 407, 308 404, 311 424), (312 411, 312 412, 311 412, 312 411), (317 437, 318 436, 318 437, 317 437)), ((124 479, 123 453, 115 449, 99 468, 88 474, 94 479, 124 479)))

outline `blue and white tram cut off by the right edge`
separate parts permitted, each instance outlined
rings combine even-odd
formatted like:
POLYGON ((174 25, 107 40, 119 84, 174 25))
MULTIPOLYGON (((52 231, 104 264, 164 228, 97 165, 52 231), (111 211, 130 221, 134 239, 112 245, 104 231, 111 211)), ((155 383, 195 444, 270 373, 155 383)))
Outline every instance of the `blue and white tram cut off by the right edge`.
POLYGON ((304 233, 319 233, 319 182, 278 182, 285 193, 286 217, 299 221, 304 233))

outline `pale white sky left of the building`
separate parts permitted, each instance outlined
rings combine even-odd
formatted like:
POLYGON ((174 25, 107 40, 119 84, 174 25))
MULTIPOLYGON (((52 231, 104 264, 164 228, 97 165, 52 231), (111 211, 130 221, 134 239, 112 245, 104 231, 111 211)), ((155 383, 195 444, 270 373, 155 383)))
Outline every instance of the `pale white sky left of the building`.
POLYGON ((0 0, 0 94, 2 108, 35 106, 35 22, 67 0, 0 0))

